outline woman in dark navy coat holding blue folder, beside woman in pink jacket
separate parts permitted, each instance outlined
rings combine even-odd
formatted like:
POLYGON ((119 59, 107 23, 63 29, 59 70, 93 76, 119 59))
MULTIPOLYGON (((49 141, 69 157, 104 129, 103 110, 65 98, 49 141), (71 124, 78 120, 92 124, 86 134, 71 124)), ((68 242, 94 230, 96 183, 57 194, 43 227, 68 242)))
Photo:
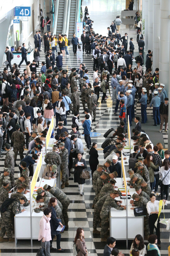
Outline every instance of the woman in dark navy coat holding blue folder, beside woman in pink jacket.
POLYGON ((50 227, 51 227, 51 240, 50 240, 50 250, 57 252, 64 252, 65 249, 61 249, 60 247, 60 241, 61 241, 61 234, 59 231, 56 229, 58 228, 59 225, 61 225, 61 228, 63 228, 63 224, 61 223, 61 219, 58 217, 56 211, 55 211, 55 206, 57 205, 57 199, 55 197, 50 198, 48 207, 51 209, 51 219, 50 219, 50 227), (54 236, 56 235, 57 240, 57 249, 52 247, 52 242, 54 239, 54 236))

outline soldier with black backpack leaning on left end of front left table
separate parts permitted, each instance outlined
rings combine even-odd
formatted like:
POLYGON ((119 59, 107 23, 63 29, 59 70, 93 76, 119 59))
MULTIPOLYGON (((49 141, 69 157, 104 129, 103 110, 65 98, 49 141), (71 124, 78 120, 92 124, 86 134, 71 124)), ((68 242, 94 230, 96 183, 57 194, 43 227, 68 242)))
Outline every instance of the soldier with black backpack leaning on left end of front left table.
POLYGON ((15 241, 14 238, 12 238, 12 223, 13 223, 13 219, 14 216, 18 213, 21 213, 23 210, 20 210, 20 204, 24 204, 25 203, 25 199, 24 197, 20 198, 20 199, 16 199, 16 201, 14 201, 13 203, 9 204, 7 206, 7 211, 3 212, 2 214, 2 226, 1 226, 1 233, 0 233, 0 243, 3 242, 9 242, 12 243, 15 241), (8 239, 4 239, 4 235, 5 232, 7 234, 7 238, 8 239))

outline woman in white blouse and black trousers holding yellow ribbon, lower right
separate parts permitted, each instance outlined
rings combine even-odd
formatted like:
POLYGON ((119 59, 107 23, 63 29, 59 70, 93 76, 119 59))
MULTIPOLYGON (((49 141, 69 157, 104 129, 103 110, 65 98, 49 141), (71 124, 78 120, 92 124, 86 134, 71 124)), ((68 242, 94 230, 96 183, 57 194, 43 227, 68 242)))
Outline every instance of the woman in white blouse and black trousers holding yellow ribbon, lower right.
MULTIPOLYGON (((165 202, 165 200, 163 200, 165 202)), ((160 218, 158 218, 159 213, 159 201, 156 200, 155 194, 150 194, 150 201, 146 204, 146 208, 149 214, 149 230, 150 235, 154 234, 154 228, 156 229, 156 235, 158 239, 158 248, 161 248, 161 240, 160 240, 160 218), (155 226, 155 222, 157 222, 157 228, 155 226)))

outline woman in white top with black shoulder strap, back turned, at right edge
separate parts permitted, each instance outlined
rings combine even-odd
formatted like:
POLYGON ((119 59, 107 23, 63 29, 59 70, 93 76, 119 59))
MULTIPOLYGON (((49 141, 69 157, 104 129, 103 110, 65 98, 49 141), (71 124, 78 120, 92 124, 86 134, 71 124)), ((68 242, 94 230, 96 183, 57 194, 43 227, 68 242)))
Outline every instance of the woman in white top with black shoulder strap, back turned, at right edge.
POLYGON ((167 205, 167 198, 169 196, 169 184, 170 184, 170 165, 169 165, 169 160, 167 158, 164 159, 162 167, 160 168, 159 178, 162 180, 161 200, 163 199, 163 192, 165 191, 165 194, 166 194, 165 204, 167 205))

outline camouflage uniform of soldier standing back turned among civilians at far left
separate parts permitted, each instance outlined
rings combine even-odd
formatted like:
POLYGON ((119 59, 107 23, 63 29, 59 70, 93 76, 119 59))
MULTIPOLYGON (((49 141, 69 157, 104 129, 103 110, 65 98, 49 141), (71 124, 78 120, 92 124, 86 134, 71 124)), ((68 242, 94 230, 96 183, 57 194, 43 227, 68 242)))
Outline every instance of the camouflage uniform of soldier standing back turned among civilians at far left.
POLYGON ((23 152, 25 146, 24 134, 21 131, 14 131, 11 137, 11 140, 14 142, 14 160, 16 161, 18 152, 20 154, 20 159, 24 158, 23 152))

